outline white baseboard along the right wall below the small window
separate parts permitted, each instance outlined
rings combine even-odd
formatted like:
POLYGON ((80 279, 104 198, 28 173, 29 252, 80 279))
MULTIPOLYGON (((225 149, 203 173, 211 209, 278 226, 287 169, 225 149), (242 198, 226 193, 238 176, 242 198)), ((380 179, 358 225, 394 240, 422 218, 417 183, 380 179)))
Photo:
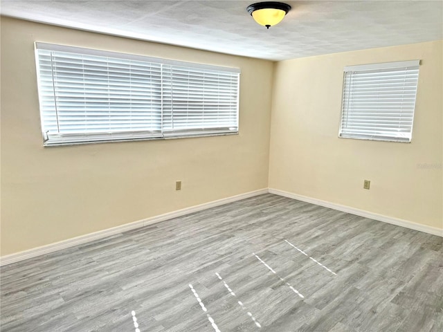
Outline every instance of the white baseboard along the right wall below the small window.
POLYGON ((291 192, 284 192, 283 190, 269 188, 269 192, 271 194, 288 197, 289 199, 297 199, 298 201, 312 203, 312 204, 324 206, 325 208, 331 208, 331 209, 338 210, 341 212, 355 214, 356 216, 364 216, 365 218, 374 219, 377 221, 383 221, 385 223, 392 223, 392 225, 410 228, 411 230, 419 230, 420 232, 425 232, 425 233, 437 235, 439 237, 443 237, 443 229, 442 228, 421 225, 419 223, 413 223, 412 221, 393 218, 392 216, 383 216, 383 214, 377 214, 374 212, 359 210, 356 208, 351 208, 350 206, 331 203, 328 201, 321 201, 320 199, 313 199, 313 198, 307 197, 307 196, 292 194, 291 192))

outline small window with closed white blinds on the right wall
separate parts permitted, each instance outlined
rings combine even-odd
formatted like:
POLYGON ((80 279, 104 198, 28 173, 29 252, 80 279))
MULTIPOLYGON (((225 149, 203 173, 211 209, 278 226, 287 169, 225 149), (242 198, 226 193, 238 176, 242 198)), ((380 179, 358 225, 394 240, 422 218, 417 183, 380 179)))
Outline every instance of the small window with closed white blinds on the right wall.
POLYGON ((338 136, 410 142, 419 60, 345 67, 338 136))

